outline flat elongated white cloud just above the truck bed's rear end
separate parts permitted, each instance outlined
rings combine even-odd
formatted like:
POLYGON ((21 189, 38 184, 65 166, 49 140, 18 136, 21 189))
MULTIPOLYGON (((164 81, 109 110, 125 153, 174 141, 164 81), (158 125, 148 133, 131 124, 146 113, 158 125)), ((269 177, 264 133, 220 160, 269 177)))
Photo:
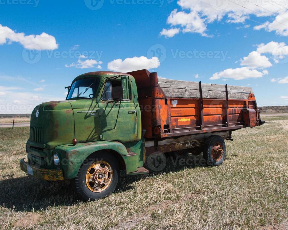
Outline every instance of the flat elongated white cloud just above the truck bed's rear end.
POLYGON ((212 75, 210 80, 217 80, 220 78, 232 78, 234 80, 243 80, 246 78, 259 78, 264 75, 268 74, 267 70, 263 70, 262 72, 259 72, 258 70, 251 70, 249 67, 242 67, 242 68, 236 68, 236 69, 226 69, 221 72, 217 72, 212 75))

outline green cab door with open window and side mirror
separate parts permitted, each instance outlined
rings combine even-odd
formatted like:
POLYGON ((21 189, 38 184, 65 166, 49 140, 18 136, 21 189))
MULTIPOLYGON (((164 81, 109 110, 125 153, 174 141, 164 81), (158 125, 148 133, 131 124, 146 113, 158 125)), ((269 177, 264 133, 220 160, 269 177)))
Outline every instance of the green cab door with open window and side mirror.
POLYGON ((137 141, 137 116, 128 76, 107 80, 100 94, 102 140, 137 141))

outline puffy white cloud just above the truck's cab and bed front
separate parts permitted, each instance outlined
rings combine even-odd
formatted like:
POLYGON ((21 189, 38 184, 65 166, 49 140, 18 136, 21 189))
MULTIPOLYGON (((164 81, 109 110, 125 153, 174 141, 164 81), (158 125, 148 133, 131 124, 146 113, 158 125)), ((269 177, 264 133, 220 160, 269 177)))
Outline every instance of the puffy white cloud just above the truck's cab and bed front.
POLYGON ((124 61, 122 59, 115 59, 108 63, 108 69, 118 72, 130 72, 134 70, 151 69, 160 66, 158 57, 128 57, 124 61))

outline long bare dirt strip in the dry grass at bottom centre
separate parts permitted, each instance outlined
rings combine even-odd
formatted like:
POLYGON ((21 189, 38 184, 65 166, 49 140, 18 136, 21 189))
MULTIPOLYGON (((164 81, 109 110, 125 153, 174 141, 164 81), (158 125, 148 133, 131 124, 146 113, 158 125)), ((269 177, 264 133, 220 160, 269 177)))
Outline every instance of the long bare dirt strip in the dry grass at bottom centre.
POLYGON ((185 204, 187 202, 190 202, 194 200, 195 198, 198 198, 200 196, 200 193, 191 193, 187 194, 185 196, 181 196, 178 200, 163 200, 159 202, 158 204, 155 204, 153 206, 149 206, 144 209, 144 212, 139 213, 134 218, 126 218, 124 221, 121 221, 117 226, 111 229, 132 229, 134 227, 137 227, 139 225, 139 222, 143 219, 149 220, 151 219, 151 213, 161 210, 167 210, 168 208, 179 206, 181 204, 185 204))

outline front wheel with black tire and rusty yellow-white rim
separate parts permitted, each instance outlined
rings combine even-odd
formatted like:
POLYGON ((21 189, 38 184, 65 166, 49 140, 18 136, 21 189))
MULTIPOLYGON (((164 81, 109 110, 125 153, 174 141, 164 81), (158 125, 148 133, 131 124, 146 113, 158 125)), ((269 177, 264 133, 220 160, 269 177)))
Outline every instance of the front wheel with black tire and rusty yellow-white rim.
POLYGON ((105 198, 115 191, 119 175, 119 164, 113 154, 109 152, 94 154, 87 158, 79 168, 74 179, 76 193, 84 201, 105 198), (96 182, 103 184, 99 185, 96 182), (103 185, 105 186, 102 187, 103 185))

